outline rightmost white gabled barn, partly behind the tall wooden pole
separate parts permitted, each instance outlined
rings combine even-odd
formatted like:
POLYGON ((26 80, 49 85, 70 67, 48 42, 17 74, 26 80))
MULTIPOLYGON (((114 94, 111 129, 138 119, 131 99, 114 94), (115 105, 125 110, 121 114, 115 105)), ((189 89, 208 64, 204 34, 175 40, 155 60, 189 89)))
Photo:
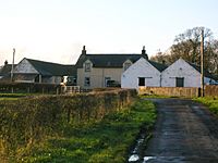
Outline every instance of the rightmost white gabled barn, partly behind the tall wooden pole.
MULTIPOLYGON (((213 75, 204 72, 206 85, 216 83, 213 75)), ((161 73, 161 87, 201 87, 201 67, 183 59, 177 60, 161 73)))

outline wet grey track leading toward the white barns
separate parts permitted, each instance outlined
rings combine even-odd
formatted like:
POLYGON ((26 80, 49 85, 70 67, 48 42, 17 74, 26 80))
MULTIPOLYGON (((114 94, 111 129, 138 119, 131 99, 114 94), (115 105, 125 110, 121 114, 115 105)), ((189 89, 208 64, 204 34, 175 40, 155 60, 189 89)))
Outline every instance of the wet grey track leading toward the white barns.
POLYGON ((191 100, 152 100, 158 121, 144 162, 218 163, 218 118, 191 100))

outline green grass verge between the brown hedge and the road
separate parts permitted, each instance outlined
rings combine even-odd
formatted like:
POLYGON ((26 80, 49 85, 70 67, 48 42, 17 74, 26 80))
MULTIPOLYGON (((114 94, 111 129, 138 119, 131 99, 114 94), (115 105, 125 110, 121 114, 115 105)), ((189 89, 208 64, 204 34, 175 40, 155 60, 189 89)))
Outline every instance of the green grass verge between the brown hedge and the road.
POLYGON ((16 162, 124 163, 141 127, 149 133, 155 120, 154 104, 140 100, 99 122, 65 126, 61 136, 45 138, 16 162))

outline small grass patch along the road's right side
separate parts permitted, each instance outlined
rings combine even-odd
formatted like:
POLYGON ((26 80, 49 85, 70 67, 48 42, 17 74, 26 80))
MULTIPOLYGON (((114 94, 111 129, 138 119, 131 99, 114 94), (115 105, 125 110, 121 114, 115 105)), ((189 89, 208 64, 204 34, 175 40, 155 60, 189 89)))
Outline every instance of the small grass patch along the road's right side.
POLYGON ((209 111, 218 116, 218 98, 197 98, 194 100, 207 105, 209 111))

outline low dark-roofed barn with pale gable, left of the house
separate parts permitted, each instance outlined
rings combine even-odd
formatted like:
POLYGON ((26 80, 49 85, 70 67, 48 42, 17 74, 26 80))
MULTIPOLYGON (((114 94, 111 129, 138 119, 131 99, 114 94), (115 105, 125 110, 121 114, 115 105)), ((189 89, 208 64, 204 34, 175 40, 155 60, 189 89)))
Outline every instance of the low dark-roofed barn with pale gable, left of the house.
POLYGON ((62 65, 24 58, 14 68, 13 80, 17 83, 60 84, 63 76, 76 78, 75 65, 62 65))

